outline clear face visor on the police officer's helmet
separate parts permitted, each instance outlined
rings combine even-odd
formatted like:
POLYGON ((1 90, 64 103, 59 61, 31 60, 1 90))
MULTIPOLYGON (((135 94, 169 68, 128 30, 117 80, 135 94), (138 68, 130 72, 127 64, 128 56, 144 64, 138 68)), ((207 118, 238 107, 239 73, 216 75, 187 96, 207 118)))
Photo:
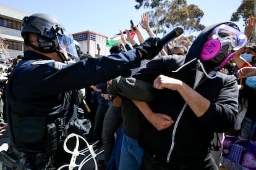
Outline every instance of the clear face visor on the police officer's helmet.
POLYGON ((77 50, 75 49, 75 43, 72 34, 67 31, 63 31, 63 34, 57 34, 57 39, 60 47, 60 51, 67 53, 69 59, 78 61, 77 50))

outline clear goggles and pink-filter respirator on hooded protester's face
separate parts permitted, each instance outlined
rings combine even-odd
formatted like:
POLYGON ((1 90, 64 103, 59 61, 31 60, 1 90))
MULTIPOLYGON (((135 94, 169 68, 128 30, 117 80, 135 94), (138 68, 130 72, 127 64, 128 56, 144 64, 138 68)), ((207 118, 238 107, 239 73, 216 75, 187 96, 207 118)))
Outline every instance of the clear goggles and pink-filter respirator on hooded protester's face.
MULTIPOLYGON (((213 63, 216 66, 215 70, 216 68, 223 68, 236 55, 236 52, 231 53, 231 51, 237 51, 244 47, 246 43, 247 36, 241 31, 226 24, 217 26, 212 31, 210 39, 205 42, 200 54, 200 60, 198 60, 205 75, 208 76, 202 63, 213 63)), ((208 76, 208 78, 215 77, 208 76)))

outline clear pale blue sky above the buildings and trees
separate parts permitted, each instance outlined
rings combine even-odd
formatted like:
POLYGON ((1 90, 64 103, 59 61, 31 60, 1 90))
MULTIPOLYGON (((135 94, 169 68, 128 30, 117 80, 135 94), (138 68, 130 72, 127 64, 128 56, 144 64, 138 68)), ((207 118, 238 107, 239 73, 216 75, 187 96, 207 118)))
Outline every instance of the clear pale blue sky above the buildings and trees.
MULTIPOLYGON (((217 22, 229 21, 233 12, 242 0, 187 0, 187 4, 195 4, 205 15, 202 24, 205 26, 217 22)), ((2 0, 0 4, 23 10, 25 12, 47 13, 58 18, 70 33, 95 31, 106 36, 113 36, 119 30, 129 29, 130 20, 139 23, 145 9, 135 9, 134 0, 2 0)), ((0 9, 1 10, 1 9, 0 9)), ((236 23, 243 31, 243 21, 236 23)), ((145 31, 143 35, 147 36, 145 31)))

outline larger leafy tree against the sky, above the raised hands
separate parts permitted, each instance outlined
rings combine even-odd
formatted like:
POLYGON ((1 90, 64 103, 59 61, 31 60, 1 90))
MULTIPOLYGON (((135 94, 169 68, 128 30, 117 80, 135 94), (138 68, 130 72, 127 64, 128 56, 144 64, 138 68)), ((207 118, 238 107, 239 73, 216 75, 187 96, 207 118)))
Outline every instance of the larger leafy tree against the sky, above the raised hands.
POLYGON ((182 26, 188 32, 200 31, 205 28, 200 23, 204 13, 194 4, 187 6, 186 0, 135 0, 140 7, 151 9, 149 22, 153 32, 166 34, 177 26, 182 26))

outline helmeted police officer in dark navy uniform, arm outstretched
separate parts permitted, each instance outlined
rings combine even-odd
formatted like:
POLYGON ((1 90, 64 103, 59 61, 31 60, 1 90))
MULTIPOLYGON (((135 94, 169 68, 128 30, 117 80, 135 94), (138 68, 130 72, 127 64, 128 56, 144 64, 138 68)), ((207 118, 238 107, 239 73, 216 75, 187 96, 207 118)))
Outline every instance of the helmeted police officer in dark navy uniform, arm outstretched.
POLYGON ((51 15, 24 17, 22 26, 26 50, 6 86, 9 153, 24 169, 58 168, 70 161, 62 148, 77 118, 75 91, 155 57, 159 38, 120 54, 79 60, 72 35, 51 15))

